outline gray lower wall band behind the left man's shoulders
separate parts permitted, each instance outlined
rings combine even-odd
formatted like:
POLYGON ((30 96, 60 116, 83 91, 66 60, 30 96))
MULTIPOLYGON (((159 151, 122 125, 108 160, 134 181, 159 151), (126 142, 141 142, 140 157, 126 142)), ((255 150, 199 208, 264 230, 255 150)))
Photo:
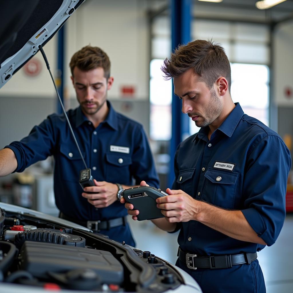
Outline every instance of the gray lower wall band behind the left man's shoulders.
MULTIPOLYGON (((72 99, 71 108, 78 105, 72 99)), ((148 100, 113 100, 113 107, 118 112, 142 123, 149 135, 148 100)), ((14 140, 20 140, 48 115, 56 111, 57 101, 48 98, 0 97, 0 149, 14 140)))

